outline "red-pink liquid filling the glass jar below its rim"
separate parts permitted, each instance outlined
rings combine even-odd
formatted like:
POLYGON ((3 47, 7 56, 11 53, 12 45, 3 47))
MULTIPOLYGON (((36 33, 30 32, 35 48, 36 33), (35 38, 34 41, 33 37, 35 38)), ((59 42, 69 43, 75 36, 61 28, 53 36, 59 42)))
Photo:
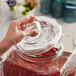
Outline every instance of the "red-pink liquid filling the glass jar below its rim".
POLYGON ((12 51, 4 62, 4 76, 60 76, 60 69, 69 55, 70 53, 64 52, 45 64, 38 64, 24 61, 12 51))

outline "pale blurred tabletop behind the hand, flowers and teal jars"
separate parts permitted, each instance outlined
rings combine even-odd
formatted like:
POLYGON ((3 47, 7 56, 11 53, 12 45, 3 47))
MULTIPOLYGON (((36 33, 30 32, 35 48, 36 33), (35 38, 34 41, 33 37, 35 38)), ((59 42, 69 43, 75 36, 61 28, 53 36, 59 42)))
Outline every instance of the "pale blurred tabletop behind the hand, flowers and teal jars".
MULTIPOLYGON (((40 13, 39 9, 36 9, 34 13, 36 16, 43 15, 40 13)), ((51 14, 46 16, 52 18, 51 14)), ((2 11, 0 12, 0 18, 2 19, 2 23, 0 24, 0 41, 1 41, 7 33, 10 21, 13 20, 11 18, 11 12, 9 11, 9 7, 6 4, 5 0, 2 0, 2 11)), ((57 21, 61 25, 63 33, 71 36, 76 41, 76 22, 66 23, 63 21, 63 19, 57 19, 57 21)))

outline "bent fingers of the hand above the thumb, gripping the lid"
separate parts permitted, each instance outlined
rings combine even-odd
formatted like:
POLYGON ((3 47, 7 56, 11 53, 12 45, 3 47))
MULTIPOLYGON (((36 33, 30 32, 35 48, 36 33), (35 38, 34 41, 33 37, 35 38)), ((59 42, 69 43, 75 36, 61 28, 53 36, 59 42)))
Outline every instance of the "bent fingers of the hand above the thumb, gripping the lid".
POLYGON ((26 24, 30 24, 31 22, 33 22, 35 20, 34 16, 29 16, 26 18, 22 18, 19 20, 14 20, 10 23, 11 26, 13 27, 18 27, 19 30, 25 30, 27 27, 31 26, 31 25, 26 25, 26 24), (24 26, 26 25, 26 26, 24 26))

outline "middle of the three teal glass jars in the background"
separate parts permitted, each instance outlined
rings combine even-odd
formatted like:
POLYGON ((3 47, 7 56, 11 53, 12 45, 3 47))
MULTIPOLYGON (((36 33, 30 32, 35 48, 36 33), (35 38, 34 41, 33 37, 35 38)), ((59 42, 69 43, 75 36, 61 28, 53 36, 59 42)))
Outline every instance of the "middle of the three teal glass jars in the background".
POLYGON ((64 0, 52 1, 52 16, 55 18, 61 18, 63 16, 63 3, 64 0))

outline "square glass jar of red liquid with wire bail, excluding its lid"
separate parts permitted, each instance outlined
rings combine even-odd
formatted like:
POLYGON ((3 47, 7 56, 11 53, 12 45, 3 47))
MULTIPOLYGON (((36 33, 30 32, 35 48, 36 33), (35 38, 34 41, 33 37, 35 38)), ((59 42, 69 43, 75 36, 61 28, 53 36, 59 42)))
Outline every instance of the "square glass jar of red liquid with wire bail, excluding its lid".
MULTIPOLYGON (((74 51, 75 44, 69 36, 62 35, 63 53, 28 56, 13 50, 3 62, 4 76, 60 76, 63 65, 74 51), (69 45, 68 45, 69 44, 69 45)), ((54 46, 56 47, 56 46, 54 46)), ((62 76, 64 76, 62 74, 62 76)))

